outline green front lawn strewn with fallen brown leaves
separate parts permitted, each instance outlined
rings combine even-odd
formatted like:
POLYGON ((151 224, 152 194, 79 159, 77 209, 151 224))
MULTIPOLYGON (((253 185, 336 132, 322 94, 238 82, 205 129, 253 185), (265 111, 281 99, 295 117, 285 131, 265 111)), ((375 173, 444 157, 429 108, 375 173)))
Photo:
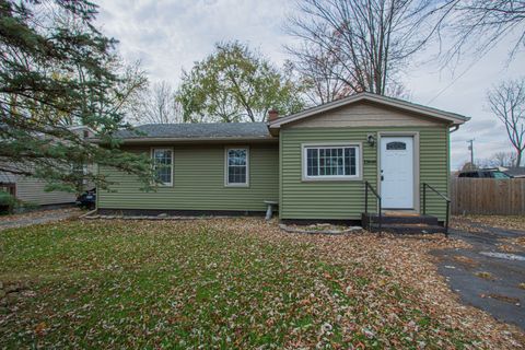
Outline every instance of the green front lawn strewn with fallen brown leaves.
POLYGON ((512 348, 428 252, 259 219, 67 221, 0 232, 0 348, 512 348), (5 301, 5 299, 4 299, 5 301))

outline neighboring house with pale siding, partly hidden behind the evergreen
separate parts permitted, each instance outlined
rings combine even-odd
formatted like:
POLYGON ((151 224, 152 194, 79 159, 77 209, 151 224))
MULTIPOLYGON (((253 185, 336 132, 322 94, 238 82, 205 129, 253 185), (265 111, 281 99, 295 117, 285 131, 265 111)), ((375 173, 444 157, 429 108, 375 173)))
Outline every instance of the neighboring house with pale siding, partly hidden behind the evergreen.
MULTIPOLYGON (((83 126, 71 127, 70 130, 83 138, 94 136, 93 130, 83 126)), ((74 203, 77 199, 75 194, 59 190, 46 191, 45 187, 46 183, 42 179, 0 172, 0 190, 9 191, 22 202, 37 206, 55 206, 74 203)))

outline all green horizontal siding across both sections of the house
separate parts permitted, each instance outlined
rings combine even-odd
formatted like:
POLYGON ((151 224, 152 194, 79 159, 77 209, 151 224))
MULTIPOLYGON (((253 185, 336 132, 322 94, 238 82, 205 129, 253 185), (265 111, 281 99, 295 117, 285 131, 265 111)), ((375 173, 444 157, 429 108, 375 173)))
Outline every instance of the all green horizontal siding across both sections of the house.
MULTIPOLYGON (((279 199, 281 219, 359 220, 364 210, 364 180, 377 187, 377 147, 370 147, 366 136, 377 136, 381 131, 418 131, 420 184, 425 182, 447 192, 450 148, 446 126, 285 128, 280 132, 279 145, 249 145, 247 188, 224 186, 225 145, 173 145, 173 187, 144 192, 133 176, 101 167, 101 174, 107 175, 115 184, 112 191, 101 190, 98 208, 264 211, 264 200, 279 199), (342 141, 362 142, 363 179, 302 182, 301 144, 342 141)), ((132 151, 149 153, 150 148, 132 151)), ((445 203, 432 192, 429 192, 427 208, 429 214, 444 220, 445 203)))

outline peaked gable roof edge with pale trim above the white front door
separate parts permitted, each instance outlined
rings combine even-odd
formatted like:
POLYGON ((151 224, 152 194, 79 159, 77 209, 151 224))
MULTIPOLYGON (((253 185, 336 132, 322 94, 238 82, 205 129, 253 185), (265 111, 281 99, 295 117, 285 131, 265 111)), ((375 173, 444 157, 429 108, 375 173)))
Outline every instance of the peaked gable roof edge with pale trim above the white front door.
POLYGON ((413 103, 397 100, 397 98, 381 96, 381 95, 371 94, 371 93, 359 93, 346 98, 341 98, 324 105, 305 109, 298 114, 279 118, 270 122, 269 127, 270 129, 279 129, 281 126, 284 126, 291 122, 298 122, 305 118, 319 116, 320 114, 325 114, 334 109, 338 109, 345 106, 350 106, 350 105, 363 103, 363 102, 373 103, 374 105, 384 106, 385 108, 395 108, 398 110, 404 110, 409 113, 410 115, 421 116, 422 118, 427 118, 427 119, 433 118, 440 121, 447 122, 450 125, 462 125, 465 121, 470 119, 468 117, 465 117, 455 113, 444 112, 444 110, 413 104, 413 103))

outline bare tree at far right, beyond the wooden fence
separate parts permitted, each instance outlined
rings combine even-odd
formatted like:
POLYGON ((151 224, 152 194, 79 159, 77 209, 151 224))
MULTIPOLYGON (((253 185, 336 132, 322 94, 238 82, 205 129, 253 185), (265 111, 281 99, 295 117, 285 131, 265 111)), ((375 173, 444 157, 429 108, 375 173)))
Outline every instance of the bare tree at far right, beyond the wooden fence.
POLYGON ((490 110, 500 119, 516 151, 516 166, 522 164, 525 150, 525 79, 510 80, 487 94, 490 110))

